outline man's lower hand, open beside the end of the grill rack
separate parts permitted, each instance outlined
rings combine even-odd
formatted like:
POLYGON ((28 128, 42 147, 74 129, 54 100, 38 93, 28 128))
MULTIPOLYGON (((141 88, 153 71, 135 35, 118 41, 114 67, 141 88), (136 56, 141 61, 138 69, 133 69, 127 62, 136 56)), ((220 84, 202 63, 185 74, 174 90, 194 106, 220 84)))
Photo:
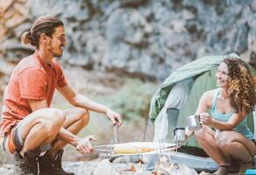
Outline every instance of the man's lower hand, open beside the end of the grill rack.
POLYGON ((77 141, 75 150, 81 152, 82 154, 92 153, 93 146, 90 143, 90 141, 96 141, 96 137, 95 136, 83 137, 82 139, 77 141))

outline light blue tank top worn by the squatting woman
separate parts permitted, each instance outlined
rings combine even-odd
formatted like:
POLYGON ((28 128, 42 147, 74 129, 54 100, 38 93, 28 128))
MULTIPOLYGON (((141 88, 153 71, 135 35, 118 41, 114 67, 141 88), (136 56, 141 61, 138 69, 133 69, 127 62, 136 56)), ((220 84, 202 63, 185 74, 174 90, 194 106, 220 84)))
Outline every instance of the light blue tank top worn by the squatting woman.
MULTIPOLYGON (((219 95, 219 92, 220 92, 220 89, 217 88, 214 95, 213 95, 213 98, 212 98, 212 105, 211 105, 211 109, 210 109, 210 114, 215 120, 226 123, 230 120, 230 118, 234 114, 235 110, 232 109, 232 111, 230 113, 225 114, 225 115, 222 114, 222 113, 219 113, 217 111, 217 96, 219 95)), ((238 126, 236 126, 233 130, 241 133, 242 135, 244 135, 248 139, 254 139, 251 130, 247 127, 246 121, 247 121, 247 116, 245 116, 245 119, 242 120, 238 124, 238 126)))

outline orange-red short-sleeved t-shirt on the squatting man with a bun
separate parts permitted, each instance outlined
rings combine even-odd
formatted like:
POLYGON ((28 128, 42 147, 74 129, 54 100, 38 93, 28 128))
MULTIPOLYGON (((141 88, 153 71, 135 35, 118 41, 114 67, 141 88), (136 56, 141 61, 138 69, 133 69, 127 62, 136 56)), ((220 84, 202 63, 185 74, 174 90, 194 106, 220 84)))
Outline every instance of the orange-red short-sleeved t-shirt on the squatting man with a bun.
POLYGON ((56 59, 50 64, 43 64, 37 51, 21 59, 4 90, 1 134, 9 132, 18 121, 32 113, 28 99, 46 99, 50 107, 55 88, 66 85, 67 80, 56 59))

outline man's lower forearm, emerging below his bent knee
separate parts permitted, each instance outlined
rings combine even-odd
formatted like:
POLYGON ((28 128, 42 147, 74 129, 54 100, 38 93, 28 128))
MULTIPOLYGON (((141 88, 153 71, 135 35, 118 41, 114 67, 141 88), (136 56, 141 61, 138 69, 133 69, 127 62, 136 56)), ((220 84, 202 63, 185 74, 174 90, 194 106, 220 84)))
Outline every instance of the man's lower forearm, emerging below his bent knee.
POLYGON ((75 136, 68 130, 64 129, 61 127, 57 138, 60 139, 61 141, 67 142, 68 144, 72 144, 73 146, 77 145, 77 142, 80 140, 80 137, 75 136))

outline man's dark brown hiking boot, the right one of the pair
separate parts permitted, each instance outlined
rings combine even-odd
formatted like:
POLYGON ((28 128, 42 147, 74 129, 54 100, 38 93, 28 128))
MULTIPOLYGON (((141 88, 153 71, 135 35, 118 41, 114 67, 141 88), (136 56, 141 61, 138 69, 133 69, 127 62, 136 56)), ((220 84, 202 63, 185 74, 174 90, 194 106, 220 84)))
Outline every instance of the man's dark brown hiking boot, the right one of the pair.
POLYGON ((45 155, 39 157, 40 175, 75 175, 73 172, 65 172, 61 165, 63 150, 60 150, 56 157, 45 155))

